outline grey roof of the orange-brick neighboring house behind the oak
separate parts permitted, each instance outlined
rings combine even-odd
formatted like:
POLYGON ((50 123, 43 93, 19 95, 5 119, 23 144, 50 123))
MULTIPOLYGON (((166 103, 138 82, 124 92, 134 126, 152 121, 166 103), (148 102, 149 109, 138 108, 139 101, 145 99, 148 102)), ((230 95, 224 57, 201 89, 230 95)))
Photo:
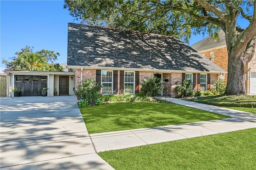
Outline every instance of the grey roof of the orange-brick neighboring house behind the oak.
POLYGON ((191 47, 193 49, 195 49, 196 51, 203 51, 206 49, 211 49, 211 48, 215 48, 215 47, 220 47, 222 45, 226 45, 226 35, 224 33, 224 31, 220 31, 219 33, 220 36, 220 40, 213 40, 211 36, 208 36, 206 38, 204 38, 203 40, 191 45, 191 47))

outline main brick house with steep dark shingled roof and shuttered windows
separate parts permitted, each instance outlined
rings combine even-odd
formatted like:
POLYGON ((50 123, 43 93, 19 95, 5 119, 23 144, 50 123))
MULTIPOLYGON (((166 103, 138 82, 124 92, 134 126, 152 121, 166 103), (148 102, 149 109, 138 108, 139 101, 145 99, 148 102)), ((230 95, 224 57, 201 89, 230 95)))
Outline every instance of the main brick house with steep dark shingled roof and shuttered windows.
POLYGON ((193 89, 207 90, 226 73, 218 65, 172 36, 68 24, 68 69, 75 84, 93 77, 102 94, 138 93, 143 79, 156 75, 164 82, 163 95, 176 96, 188 78, 193 89))

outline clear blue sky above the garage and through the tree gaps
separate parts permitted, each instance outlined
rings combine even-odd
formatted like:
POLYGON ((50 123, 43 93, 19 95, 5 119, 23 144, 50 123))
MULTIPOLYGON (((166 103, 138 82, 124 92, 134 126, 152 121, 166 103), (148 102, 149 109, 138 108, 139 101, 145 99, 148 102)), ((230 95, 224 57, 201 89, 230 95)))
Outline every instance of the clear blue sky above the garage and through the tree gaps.
MULTIPOLYGON (((55 63, 67 61, 68 22, 80 21, 74 20, 63 5, 62 0, 0 1, 0 73, 5 69, 2 59, 16 56, 26 45, 33 46, 34 52, 41 49, 59 52, 55 63)), ((202 39, 202 35, 193 35, 190 45, 202 39)))

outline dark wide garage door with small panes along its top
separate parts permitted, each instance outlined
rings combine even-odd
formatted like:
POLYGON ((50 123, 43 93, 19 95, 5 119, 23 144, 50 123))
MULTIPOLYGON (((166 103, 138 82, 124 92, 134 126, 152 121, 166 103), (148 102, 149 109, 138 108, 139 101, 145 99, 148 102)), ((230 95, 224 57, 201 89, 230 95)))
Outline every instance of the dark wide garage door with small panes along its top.
POLYGON ((22 96, 40 96, 41 90, 47 87, 47 76, 15 75, 15 88, 21 90, 22 96))

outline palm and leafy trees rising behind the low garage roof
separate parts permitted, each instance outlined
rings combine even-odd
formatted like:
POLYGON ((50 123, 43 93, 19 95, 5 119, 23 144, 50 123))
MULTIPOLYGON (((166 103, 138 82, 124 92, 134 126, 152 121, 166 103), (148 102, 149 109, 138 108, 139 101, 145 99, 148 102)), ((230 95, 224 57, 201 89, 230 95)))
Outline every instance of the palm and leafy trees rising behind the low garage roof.
POLYGON ((12 61, 2 60, 8 69, 14 70, 30 70, 30 71, 63 71, 63 67, 59 64, 51 65, 48 61, 56 60, 58 52, 42 49, 33 52, 34 47, 26 46, 20 52, 16 52, 17 57, 10 57, 12 61))

